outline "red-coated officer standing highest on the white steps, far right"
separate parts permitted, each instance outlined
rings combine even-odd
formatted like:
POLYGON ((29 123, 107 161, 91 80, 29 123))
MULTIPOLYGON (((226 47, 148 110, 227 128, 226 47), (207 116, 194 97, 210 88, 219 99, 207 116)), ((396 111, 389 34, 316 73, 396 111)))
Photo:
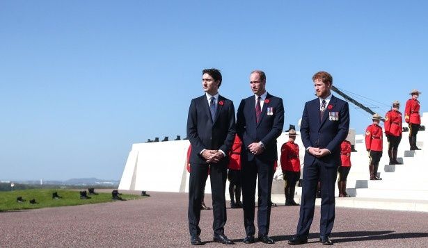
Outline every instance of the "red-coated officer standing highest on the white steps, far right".
POLYGON ((420 128, 420 103, 418 97, 422 92, 418 90, 412 90, 410 92, 411 99, 406 101, 406 108, 404 110, 404 120, 409 123, 409 144, 411 150, 420 150, 416 146, 416 135, 420 128))

